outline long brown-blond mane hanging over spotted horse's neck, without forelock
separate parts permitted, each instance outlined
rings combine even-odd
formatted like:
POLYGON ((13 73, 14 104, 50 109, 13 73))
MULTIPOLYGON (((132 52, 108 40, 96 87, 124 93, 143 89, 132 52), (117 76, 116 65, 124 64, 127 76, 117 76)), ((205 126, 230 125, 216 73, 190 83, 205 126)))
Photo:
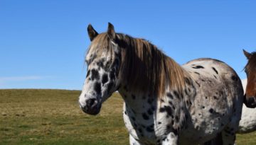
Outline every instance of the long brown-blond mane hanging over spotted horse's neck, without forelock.
MULTIPOLYGON (((166 85, 183 86, 185 71, 173 59, 167 57, 145 40, 130 38, 122 49, 121 81, 134 91, 164 93, 166 85)), ((157 94, 162 95, 162 94, 157 94)))

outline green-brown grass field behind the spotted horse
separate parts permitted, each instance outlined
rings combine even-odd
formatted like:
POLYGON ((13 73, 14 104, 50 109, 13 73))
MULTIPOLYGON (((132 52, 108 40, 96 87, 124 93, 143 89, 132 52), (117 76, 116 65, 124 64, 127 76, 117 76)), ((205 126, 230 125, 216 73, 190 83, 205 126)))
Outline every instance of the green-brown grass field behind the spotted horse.
MULTIPOLYGON (((80 91, 0 90, 0 144, 129 144, 118 93, 97 116, 78 107, 80 91)), ((256 144, 256 132, 237 144, 256 144)))

